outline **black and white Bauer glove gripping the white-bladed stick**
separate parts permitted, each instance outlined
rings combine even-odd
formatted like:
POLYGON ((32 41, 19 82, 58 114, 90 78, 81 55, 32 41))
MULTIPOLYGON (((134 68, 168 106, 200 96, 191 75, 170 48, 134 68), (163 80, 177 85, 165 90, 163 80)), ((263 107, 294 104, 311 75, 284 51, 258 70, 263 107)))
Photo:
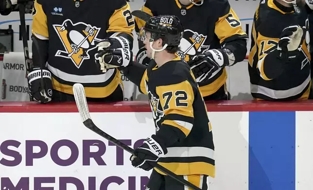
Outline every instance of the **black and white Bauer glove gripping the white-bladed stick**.
POLYGON ((135 168, 149 171, 155 167, 158 158, 166 153, 167 149, 160 142, 156 141, 155 135, 152 135, 135 150, 135 156, 132 155, 130 160, 135 168))

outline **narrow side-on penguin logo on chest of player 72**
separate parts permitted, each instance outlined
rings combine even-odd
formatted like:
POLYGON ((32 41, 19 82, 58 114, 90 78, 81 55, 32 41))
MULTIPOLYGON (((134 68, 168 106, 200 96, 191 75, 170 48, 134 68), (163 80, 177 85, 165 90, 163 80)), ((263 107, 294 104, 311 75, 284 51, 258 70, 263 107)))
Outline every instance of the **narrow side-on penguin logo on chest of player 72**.
POLYGON ((164 112, 160 104, 160 100, 156 98, 150 91, 148 92, 148 96, 152 110, 152 116, 156 123, 156 131, 158 131, 160 129, 158 122, 164 117, 164 112))

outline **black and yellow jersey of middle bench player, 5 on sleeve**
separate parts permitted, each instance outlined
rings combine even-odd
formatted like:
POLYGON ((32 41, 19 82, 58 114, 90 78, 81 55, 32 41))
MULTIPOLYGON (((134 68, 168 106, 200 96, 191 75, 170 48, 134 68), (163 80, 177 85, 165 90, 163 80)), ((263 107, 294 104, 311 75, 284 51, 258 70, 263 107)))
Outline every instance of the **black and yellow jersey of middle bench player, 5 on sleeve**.
MULTIPOLYGON (((178 0, 146 0, 140 10, 152 16, 174 15, 180 19, 185 31, 177 55, 187 62, 208 49, 248 38, 228 0, 204 0, 201 6, 191 4, 188 7, 182 7, 178 0)), ((136 30, 144 26, 143 20, 137 17, 135 20, 136 30)), ((226 82, 226 78, 226 69, 220 68, 209 80, 199 83, 202 94, 212 95, 226 82)))

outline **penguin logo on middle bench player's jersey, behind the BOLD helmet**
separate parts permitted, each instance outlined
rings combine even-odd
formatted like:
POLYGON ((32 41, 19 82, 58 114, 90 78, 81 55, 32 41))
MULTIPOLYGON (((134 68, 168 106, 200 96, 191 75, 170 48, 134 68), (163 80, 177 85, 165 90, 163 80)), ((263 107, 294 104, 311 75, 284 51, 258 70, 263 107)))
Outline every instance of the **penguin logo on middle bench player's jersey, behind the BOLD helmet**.
POLYGON ((180 40, 180 50, 177 51, 177 55, 188 62, 193 56, 209 49, 210 46, 203 45, 207 37, 189 29, 185 30, 184 36, 180 40))

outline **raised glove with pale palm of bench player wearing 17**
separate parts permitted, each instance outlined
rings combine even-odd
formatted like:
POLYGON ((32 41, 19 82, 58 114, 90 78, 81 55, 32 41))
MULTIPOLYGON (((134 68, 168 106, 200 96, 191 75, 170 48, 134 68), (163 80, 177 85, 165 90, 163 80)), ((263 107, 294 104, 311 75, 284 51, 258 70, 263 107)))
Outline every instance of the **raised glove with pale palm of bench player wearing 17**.
POLYGON ((278 41, 278 58, 281 60, 295 59, 300 53, 305 32, 300 26, 285 28, 278 41))

